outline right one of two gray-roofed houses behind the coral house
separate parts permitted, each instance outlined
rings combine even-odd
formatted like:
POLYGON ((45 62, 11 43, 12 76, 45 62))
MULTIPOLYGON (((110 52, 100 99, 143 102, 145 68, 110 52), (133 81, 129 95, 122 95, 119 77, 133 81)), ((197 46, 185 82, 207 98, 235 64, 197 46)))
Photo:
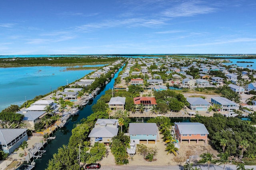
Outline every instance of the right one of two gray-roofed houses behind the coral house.
POLYGON ((210 103, 203 98, 187 98, 189 108, 195 111, 207 111, 210 107, 210 103))

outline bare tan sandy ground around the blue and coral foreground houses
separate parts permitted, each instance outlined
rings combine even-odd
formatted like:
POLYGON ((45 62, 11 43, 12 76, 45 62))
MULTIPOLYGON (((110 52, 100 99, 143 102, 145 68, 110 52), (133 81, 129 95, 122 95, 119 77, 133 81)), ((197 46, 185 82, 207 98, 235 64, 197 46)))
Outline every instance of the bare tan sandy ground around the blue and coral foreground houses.
MULTIPOLYGON (((162 135, 160 135, 160 142, 157 142, 157 144, 145 144, 148 147, 157 147, 158 153, 154 158, 157 160, 154 162, 146 162, 146 160, 143 159, 143 156, 136 153, 133 157, 133 160, 129 158, 129 164, 128 165, 184 165, 186 163, 186 160, 191 156, 191 162, 197 162, 200 160, 200 154, 204 152, 210 152, 214 154, 213 156, 216 157, 218 152, 214 150, 211 145, 208 143, 210 142, 209 139, 207 141, 207 144, 204 143, 204 141, 199 141, 198 144, 196 144, 196 141, 191 141, 190 144, 188 142, 183 141, 182 144, 180 144, 180 149, 178 150, 179 154, 177 156, 174 156, 174 154, 168 154, 165 151, 165 143, 162 141, 162 135)), ((115 159, 112 153, 110 152, 110 148, 108 147, 109 154, 107 157, 103 158, 103 160, 100 161, 101 165, 115 165, 115 159)))

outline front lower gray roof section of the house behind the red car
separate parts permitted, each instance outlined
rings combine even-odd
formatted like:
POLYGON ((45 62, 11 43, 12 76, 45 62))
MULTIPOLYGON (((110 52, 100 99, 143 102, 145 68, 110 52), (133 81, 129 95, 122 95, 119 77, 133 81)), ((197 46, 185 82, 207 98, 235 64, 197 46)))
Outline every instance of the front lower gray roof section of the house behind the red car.
POLYGON ((114 137, 117 133, 117 127, 94 127, 88 137, 114 137))

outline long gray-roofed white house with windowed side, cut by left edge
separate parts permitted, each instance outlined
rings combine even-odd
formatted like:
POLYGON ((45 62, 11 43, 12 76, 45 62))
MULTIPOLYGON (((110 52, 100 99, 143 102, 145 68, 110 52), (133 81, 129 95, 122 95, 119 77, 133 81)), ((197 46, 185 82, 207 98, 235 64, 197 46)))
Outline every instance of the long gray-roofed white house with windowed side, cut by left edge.
POLYGON ((27 129, 1 129, 0 128, 0 149, 11 154, 23 141, 28 140, 27 129))

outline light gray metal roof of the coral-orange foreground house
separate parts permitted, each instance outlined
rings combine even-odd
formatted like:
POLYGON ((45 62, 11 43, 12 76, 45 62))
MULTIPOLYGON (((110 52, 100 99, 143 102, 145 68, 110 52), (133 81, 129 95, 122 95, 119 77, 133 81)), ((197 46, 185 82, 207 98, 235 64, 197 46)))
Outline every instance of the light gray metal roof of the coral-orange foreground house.
POLYGON ((206 127, 198 122, 181 122, 174 123, 178 126, 180 134, 209 134, 206 127))

